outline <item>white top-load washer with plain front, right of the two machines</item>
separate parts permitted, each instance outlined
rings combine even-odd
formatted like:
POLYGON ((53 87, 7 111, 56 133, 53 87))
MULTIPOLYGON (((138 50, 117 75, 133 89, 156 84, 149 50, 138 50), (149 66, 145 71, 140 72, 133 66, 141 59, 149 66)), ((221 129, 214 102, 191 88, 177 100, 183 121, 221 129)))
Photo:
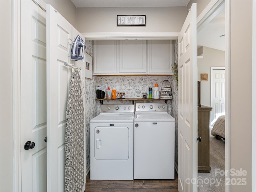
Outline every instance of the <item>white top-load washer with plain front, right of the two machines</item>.
POLYGON ((175 119, 166 103, 137 103, 134 179, 174 179, 175 119))

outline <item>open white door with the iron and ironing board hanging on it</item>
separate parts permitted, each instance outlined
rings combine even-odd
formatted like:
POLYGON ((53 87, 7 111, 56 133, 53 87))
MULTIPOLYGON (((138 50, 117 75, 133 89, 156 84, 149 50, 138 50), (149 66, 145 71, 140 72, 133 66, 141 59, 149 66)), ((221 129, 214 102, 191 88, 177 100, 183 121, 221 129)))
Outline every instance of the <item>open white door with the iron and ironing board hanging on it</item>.
MULTIPOLYGON (((82 61, 71 61, 69 56, 72 42, 79 34, 78 31, 52 6, 46 6, 46 13, 47 191, 64 192, 66 103, 72 72, 72 68, 64 66, 64 62, 80 66, 82 80, 85 76, 85 64, 82 61)), ((85 101, 85 96, 83 100, 85 101)), ((84 152, 85 150, 84 148, 84 152)), ((86 162, 85 158, 84 162, 86 162)), ((84 190, 85 182, 82 191, 84 190)))

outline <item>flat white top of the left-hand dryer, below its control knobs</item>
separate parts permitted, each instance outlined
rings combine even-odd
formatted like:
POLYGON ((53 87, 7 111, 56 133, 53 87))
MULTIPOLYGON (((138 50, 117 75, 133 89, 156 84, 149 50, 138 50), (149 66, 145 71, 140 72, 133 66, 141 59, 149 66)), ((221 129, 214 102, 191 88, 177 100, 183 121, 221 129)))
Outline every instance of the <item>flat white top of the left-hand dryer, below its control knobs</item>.
POLYGON ((99 114, 91 119, 92 122, 133 122, 134 114, 99 114))

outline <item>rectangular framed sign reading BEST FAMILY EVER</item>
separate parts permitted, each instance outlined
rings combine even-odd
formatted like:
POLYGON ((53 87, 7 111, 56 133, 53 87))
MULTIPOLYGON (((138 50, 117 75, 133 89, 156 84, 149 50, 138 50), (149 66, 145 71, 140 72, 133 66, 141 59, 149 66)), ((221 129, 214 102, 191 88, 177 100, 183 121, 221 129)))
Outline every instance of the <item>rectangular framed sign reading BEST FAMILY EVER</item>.
POLYGON ((118 15, 117 26, 146 26, 146 15, 118 15))

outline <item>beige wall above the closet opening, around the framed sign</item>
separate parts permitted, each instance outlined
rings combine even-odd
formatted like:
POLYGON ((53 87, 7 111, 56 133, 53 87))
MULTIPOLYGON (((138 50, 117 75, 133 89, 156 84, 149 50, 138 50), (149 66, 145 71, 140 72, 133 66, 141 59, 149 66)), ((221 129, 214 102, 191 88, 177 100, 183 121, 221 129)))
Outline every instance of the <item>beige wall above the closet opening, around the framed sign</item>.
POLYGON ((84 32, 179 32, 186 7, 77 8, 77 30, 84 32), (117 26, 117 15, 146 15, 146 26, 117 26))

